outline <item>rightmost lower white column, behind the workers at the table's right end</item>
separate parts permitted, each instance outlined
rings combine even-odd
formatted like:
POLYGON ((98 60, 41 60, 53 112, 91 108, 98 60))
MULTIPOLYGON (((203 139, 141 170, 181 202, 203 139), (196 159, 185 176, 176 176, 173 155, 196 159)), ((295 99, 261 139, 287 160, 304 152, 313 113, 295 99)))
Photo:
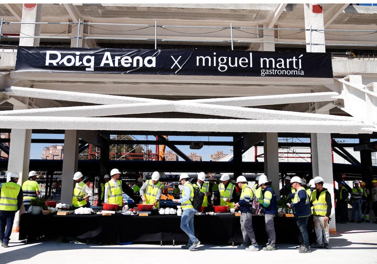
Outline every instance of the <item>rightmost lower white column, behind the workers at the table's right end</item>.
POLYGON ((328 133, 312 133, 312 166, 313 178, 320 176, 323 179, 323 187, 328 190, 331 196, 331 218, 329 229, 330 233, 336 233, 335 227, 335 204, 334 204, 334 177, 333 177, 333 159, 331 153, 331 135, 328 133))

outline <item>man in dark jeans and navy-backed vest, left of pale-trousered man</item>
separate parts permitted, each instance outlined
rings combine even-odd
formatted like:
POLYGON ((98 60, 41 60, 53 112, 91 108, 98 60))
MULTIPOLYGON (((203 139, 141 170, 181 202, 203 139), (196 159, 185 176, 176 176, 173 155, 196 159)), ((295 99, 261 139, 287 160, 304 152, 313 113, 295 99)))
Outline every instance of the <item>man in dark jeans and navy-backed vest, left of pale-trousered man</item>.
POLYGON ((298 249, 300 253, 310 253, 311 250, 309 248, 309 235, 307 230, 308 219, 311 215, 309 195, 301 186, 300 177, 292 177, 291 184, 296 190, 296 193, 294 194, 293 203, 288 204, 288 207, 292 208, 293 210, 293 214, 296 217, 297 226, 300 229, 303 239, 302 245, 296 249, 298 249))

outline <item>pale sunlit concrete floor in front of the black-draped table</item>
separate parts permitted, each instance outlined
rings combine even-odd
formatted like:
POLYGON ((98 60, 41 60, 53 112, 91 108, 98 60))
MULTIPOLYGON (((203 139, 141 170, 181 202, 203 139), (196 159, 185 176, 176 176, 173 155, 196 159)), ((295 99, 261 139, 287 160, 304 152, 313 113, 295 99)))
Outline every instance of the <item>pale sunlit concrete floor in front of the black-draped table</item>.
MULTIPOLYGON (((346 223, 337 224, 337 233, 330 235, 331 250, 313 249, 312 253, 301 254, 294 244, 277 244, 277 250, 266 252, 247 252, 233 246, 201 245, 198 250, 181 249, 181 245, 172 246, 164 242, 156 244, 109 245, 61 243, 60 241, 43 241, 25 244, 18 241, 18 233, 12 233, 8 248, 0 247, 0 264, 60 264, 60 263, 106 263, 106 261, 135 261, 146 263, 153 258, 153 264, 159 263, 231 263, 243 258, 254 261, 276 261, 279 264, 295 261, 305 257, 305 264, 323 260, 326 263, 377 263, 377 224, 346 223), (173 260, 173 261, 172 261, 173 260)), ((37 227, 36 227, 37 228, 37 227)), ((289 230, 287 230, 289 235, 289 230)), ((262 248, 262 245, 260 245, 262 248)))

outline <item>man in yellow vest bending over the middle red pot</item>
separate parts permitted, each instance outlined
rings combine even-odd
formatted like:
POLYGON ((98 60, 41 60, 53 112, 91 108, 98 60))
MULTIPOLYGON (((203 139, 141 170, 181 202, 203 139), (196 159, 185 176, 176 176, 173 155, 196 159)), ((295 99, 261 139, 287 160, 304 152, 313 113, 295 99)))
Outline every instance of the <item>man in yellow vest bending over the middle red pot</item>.
POLYGON ((158 209, 159 200, 161 198, 164 184, 160 181, 160 173, 155 171, 152 173, 152 179, 147 180, 140 188, 140 196, 143 203, 153 204, 154 209, 158 209))

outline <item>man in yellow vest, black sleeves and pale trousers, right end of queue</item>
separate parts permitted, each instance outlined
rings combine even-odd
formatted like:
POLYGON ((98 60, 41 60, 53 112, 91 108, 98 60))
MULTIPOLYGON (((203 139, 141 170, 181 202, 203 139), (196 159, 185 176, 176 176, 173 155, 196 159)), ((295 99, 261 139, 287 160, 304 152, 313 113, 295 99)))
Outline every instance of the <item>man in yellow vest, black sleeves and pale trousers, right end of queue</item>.
POLYGON ((316 189, 311 195, 310 204, 313 205, 313 224, 317 241, 311 245, 313 248, 331 249, 329 246, 329 219, 331 215, 331 195, 326 188, 323 188, 323 179, 314 177, 316 189))

